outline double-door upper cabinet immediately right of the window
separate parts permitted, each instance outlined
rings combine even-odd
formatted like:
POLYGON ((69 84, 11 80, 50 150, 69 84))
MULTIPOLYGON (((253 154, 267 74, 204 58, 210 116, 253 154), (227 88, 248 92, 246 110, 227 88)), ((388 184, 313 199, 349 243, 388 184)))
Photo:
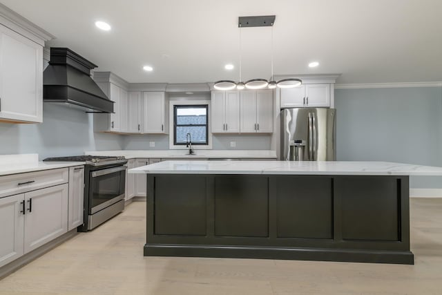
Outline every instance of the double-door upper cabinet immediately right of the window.
POLYGON ((212 133, 240 132, 239 91, 212 91, 211 130, 212 133))

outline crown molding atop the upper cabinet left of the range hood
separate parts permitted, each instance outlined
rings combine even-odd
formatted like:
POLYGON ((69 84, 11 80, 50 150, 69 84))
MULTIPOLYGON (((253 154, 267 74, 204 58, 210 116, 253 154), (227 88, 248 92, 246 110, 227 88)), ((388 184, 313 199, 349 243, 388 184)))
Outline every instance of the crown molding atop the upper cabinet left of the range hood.
POLYGON ((35 25, 35 23, 31 23, 28 19, 25 19, 17 12, 10 10, 10 8, 1 3, 0 23, 41 46, 44 46, 45 41, 55 39, 55 36, 50 34, 50 32, 40 28, 35 25))

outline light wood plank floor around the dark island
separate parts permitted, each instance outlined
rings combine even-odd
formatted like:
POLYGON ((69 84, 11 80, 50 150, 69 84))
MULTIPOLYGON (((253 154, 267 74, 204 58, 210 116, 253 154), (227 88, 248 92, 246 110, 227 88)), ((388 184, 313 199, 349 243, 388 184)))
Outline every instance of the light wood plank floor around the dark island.
POLYGON ((0 280, 0 294, 442 294, 442 199, 412 199, 415 265, 143 257, 144 202, 0 280))

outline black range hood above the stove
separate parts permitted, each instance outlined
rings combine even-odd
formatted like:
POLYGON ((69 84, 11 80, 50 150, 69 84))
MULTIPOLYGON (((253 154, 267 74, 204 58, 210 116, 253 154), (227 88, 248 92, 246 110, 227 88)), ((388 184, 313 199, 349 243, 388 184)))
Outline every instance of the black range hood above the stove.
POLYGON ((90 77, 97 66, 68 48, 50 48, 43 73, 43 101, 72 104, 97 113, 113 113, 113 104, 90 77))

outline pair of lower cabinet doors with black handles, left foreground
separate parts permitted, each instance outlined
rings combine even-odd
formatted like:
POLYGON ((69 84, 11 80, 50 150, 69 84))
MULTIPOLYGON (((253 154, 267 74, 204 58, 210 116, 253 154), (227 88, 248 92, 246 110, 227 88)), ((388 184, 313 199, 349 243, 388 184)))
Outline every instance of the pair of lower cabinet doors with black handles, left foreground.
POLYGON ((0 266, 68 232, 68 184, 0 199, 0 266))

